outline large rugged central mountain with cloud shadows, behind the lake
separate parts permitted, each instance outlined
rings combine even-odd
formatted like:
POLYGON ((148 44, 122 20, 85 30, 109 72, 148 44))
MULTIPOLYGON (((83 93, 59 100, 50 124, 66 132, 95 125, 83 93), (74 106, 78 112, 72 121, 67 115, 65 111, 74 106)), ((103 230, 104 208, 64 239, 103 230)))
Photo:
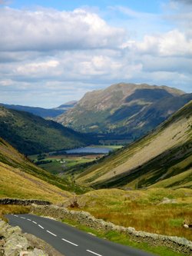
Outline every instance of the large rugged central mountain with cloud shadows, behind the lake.
POLYGON ((55 120, 76 131, 123 135, 134 141, 191 99, 192 94, 167 86, 120 83, 88 92, 55 120))

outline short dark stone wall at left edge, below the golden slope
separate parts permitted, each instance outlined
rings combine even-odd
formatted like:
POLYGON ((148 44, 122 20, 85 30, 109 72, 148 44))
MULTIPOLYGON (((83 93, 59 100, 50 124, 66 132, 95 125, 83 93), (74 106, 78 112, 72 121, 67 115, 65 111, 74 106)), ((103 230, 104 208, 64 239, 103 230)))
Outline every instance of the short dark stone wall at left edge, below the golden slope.
POLYGON ((50 201, 38 200, 38 199, 18 199, 18 198, 1 198, 0 204, 18 204, 18 205, 50 205, 50 201))

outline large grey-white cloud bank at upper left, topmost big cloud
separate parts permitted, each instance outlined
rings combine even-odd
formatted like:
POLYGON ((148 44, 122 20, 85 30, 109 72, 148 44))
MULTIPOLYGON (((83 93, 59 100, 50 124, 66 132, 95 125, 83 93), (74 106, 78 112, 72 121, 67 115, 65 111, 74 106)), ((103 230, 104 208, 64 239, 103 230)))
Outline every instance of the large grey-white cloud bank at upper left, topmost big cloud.
POLYGON ((0 51, 116 48, 124 38, 124 29, 111 27, 83 9, 31 12, 0 8, 0 24, 0 51))

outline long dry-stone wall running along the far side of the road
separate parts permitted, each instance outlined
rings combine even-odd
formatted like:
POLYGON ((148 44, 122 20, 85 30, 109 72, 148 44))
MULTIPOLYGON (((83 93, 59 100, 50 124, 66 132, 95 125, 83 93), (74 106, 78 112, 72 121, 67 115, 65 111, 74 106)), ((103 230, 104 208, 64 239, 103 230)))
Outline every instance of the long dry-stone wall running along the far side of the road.
POLYGON ((66 208, 61 208, 55 205, 51 206, 38 206, 31 205, 32 214, 40 214, 43 216, 49 216, 58 220, 71 220, 84 224, 89 228, 94 228, 99 231, 118 231, 130 236, 130 238, 137 242, 147 242, 152 245, 166 246, 173 251, 182 252, 192 255, 192 242, 186 238, 177 238, 174 236, 167 236, 161 234, 151 234, 144 231, 136 231, 134 228, 124 228, 115 225, 111 222, 106 222, 101 219, 94 218, 91 214, 84 211, 69 211, 66 208))

